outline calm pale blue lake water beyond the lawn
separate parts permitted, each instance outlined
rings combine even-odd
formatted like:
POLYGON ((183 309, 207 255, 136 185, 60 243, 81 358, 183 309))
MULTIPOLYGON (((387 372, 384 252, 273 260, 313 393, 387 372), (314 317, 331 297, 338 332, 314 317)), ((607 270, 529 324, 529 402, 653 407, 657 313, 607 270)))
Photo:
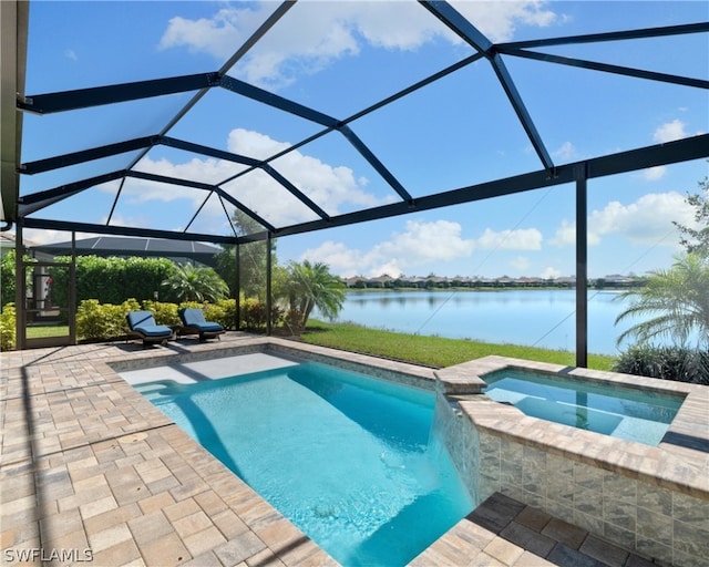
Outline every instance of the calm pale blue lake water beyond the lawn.
MULTIPOLYGON (((617 354, 616 327, 629 305, 617 291, 588 292, 588 352, 617 354)), ((574 290, 348 291, 337 319, 374 329, 574 351, 574 290)), ((314 313, 318 318, 318 313, 314 313)))

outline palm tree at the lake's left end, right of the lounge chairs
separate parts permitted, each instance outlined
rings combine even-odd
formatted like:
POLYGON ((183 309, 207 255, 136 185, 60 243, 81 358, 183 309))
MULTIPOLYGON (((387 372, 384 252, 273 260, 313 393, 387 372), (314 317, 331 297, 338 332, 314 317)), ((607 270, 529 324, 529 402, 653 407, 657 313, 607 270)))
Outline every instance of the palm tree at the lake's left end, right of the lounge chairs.
POLYGON ((312 310, 318 310, 333 319, 345 303, 345 284, 330 274, 326 264, 291 262, 288 267, 286 295, 288 297, 288 322, 295 333, 305 329, 312 310))

